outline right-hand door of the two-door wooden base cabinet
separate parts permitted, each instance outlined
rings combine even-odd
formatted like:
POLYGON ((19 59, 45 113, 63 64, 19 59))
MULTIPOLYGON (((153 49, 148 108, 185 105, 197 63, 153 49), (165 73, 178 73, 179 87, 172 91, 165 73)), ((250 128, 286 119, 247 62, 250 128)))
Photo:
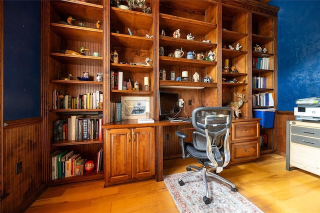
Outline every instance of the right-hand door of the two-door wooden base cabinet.
POLYGON ((135 128, 132 135, 132 177, 154 175, 154 127, 135 128))

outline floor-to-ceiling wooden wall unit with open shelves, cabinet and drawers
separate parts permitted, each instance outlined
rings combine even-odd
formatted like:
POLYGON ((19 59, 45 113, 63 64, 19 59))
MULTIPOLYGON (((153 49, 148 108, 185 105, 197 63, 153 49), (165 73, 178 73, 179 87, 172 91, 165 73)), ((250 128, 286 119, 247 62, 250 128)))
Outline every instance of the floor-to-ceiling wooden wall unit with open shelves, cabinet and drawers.
MULTIPOLYGON (((234 138, 231 139, 231 148, 234 154, 231 162, 243 162, 258 157, 259 135, 250 135, 247 132, 241 135, 243 130, 241 128, 248 127, 251 133, 253 127, 250 123, 257 120, 252 118, 252 109, 260 106, 252 106, 252 95, 262 92, 272 93, 274 108, 276 108, 278 8, 241 0, 146 0, 147 6, 151 8, 151 13, 146 14, 114 7, 112 2, 111 0, 43 2, 41 17, 46 22, 46 27, 43 29, 41 44, 45 49, 42 69, 43 76, 46 76, 43 78, 46 80, 42 82, 41 87, 46 89, 41 96, 44 102, 42 105, 45 123, 43 129, 46 132, 44 139, 48 141, 46 144, 49 146, 46 155, 49 156, 57 149, 68 148, 85 158, 94 159, 102 146, 106 148, 114 143, 119 149, 114 149, 113 146, 108 149, 117 153, 116 156, 104 150, 104 169, 107 167, 104 178, 108 184, 154 175, 154 158, 152 158, 154 156, 147 155, 146 149, 140 150, 148 146, 151 148, 151 143, 143 144, 146 141, 145 138, 141 140, 135 138, 144 135, 144 133, 137 134, 141 125, 137 122, 127 125, 128 120, 112 122, 114 112, 109 106, 110 102, 119 102, 123 96, 148 97, 151 118, 163 126, 162 131, 156 132, 160 135, 154 136, 152 129, 152 138, 158 138, 158 146, 162 146, 164 141, 177 143, 177 145, 170 145, 174 147, 174 150, 170 150, 170 155, 177 156, 181 149, 174 134, 176 128, 160 122, 164 117, 159 115, 158 91, 164 90, 178 93, 179 98, 184 100, 183 110, 179 114, 181 116, 191 116, 192 110, 199 106, 225 106, 231 101, 238 101, 235 95, 237 92, 245 95, 247 101, 240 108, 241 116, 237 121, 232 122, 234 126, 231 128, 231 134, 234 138), (62 24, 60 21, 66 21, 68 16, 75 19, 72 25, 62 24), (96 28, 97 20, 100 20, 100 28, 96 28), (88 27, 78 26, 78 23, 88 27), (177 29, 180 37, 173 37, 173 32, 177 29), (190 33, 194 36, 193 39, 189 39, 190 33), (235 48, 237 43, 241 45, 240 49, 229 48, 229 45, 235 48), (254 51, 253 47, 256 44, 267 48, 268 51, 254 51), (63 51, 65 49, 78 51, 81 46, 89 49, 84 51, 85 55, 65 54, 63 51), (163 55, 159 53, 160 47, 164 49, 163 55), (170 53, 181 48, 184 51, 182 57, 169 56, 170 53), (114 51, 118 53, 118 63, 110 60, 111 52, 114 51), (216 57, 214 60, 189 59, 186 58, 189 51, 202 53, 204 56, 214 52, 216 57), (99 52, 99 56, 92 56, 93 52, 99 52), (144 62, 147 57, 152 60, 148 65, 137 65, 139 62, 144 62), (269 58, 268 69, 252 67, 253 57, 269 58), (225 64, 226 62, 228 63, 225 64), (227 70, 224 65, 228 66, 227 70), (166 70, 165 79, 160 76, 160 71, 163 69, 166 70), (236 71, 232 72, 234 69, 236 71), (138 90, 112 88, 111 71, 123 72, 122 80, 130 80, 132 86, 135 81, 138 82, 138 90), (174 71, 172 80, 171 71, 174 71), (182 77, 182 71, 188 73, 186 80, 177 80, 177 77, 182 77), (83 76, 83 72, 89 72, 89 81, 76 79, 77 76, 83 76), (199 75, 198 81, 193 79, 195 72, 199 75), (97 73, 103 74, 103 82, 95 80, 97 73), (73 79, 64 80, 63 78, 69 74, 73 79), (266 77, 266 88, 252 88, 254 76, 266 77), (148 90, 144 90, 144 77, 149 79, 148 90), (205 77, 211 77, 212 82, 204 82, 205 77), (53 107, 52 91, 54 89, 63 90, 74 97, 78 94, 101 90, 103 108, 56 109, 53 107), (104 135, 103 140, 95 138, 81 141, 60 140, 53 143, 52 121, 67 119, 70 115, 76 114, 103 114, 107 136, 104 135), (238 126, 238 123, 244 125, 238 126), (137 135, 133 136, 134 132, 137 135), (122 140, 126 141, 125 144, 122 140), (144 142, 142 144, 137 142, 134 146, 132 142, 131 145, 129 144, 130 141, 144 142), (121 160, 117 156, 121 156, 121 160), (135 161, 137 159, 139 160, 135 161), (124 165, 120 161, 128 163, 124 165), (152 165, 147 165, 147 161, 152 162, 152 165), (115 164, 110 166, 107 165, 108 163, 115 164)), ((255 133, 259 132, 258 127, 254 129, 255 133)), ((273 128, 261 129, 261 131, 268 137, 266 145, 261 149, 273 151, 275 148, 273 128)), ((142 130, 142 132, 149 132, 149 130, 142 130)), ((154 147, 153 144, 152 147, 154 147)), ((149 153, 155 155, 154 150, 149 153)), ((161 159, 159 157, 158 160, 161 159)), ((46 164, 49 169, 49 162, 46 164)), ((160 163, 159 166, 161 166, 160 163)), ((68 180, 76 182, 101 176, 103 174, 95 173, 89 177, 83 175, 68 180)))

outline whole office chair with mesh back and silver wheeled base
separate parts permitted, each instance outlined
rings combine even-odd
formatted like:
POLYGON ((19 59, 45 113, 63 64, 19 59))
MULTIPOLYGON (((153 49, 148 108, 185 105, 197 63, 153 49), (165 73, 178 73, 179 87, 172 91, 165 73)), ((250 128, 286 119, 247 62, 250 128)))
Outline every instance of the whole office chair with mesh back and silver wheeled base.
POLYGON ((221 172, 230 161, 228 136, 232 114, 232 108, 226 106, 198 107, 192 111, 192 125, 195 129, 192 132, 192 143, 184 142, 186 134, 180 131, 175 132, 180 139, 182 158, 192 157, 202 164, 202 168, 189 165, 186 170, 194 171, 179 177, 178 182, 180 185, 184 185, 182 179, 191 175, 202 175, 206 188, 206 195, 202 198, 205 204, 211 202, 207 176, 229 184, 231 191, 236 191, 232 182, 216 174, 221 172), (212 172, 208 170, 210 168, 213 169, 212 172))

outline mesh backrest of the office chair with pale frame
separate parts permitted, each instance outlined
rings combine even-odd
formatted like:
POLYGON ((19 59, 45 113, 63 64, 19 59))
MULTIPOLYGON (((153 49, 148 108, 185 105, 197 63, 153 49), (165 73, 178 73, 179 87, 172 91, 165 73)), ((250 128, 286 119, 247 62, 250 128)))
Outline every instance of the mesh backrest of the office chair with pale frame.
POLYGON ((231 107, 198 107, 192 111, 193 145, 205 151, 214 167, 224 167, 230 160, 228 144, 233 110, 231 107), (219 150, 223 145, 223 150, 219 150), (220 151, 223 151, 222 154, 220 151), (224 162, 221 156, 224 155, 224 162), (219 159, 218 159, 219 158, 219 159), (218 160, 218 162, 217 162, 218 160))

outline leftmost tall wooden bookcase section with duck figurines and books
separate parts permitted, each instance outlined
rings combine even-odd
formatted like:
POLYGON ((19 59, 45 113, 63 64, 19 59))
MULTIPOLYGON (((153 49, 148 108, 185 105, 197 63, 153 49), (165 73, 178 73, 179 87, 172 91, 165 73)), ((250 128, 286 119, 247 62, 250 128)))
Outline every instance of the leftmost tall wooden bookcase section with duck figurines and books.
MULTIPOLYGON (((103 73, 103 24, 100 28, 96 28, 98 20, 102 23, 103 2, 92 2, 58 0, 45 3, 50 8, 50 13, 49 18, 44 19, 48 21, 47 34, 45 34, 48 42, 42 42, 47 49, 47 54, 43 56, 48 56, 48 63, 46 64, 47 70, 44 73, 47 76, 47 82, 43 82, 42 87, 46 88, 44 96, 48 108, 45 108, 45 111, 48 111, 48 113, 44 120, 47 122, 47 139, 50 141, 49 152, 73 150, 73 153, 80 154, 81 158, 90 159, 96 163, 97 152, 103 147, 102 136, 100 138, 92 136, 89 139, 77 138, 76 140, 70 139, 70 137, 66 138, 70 136, 67 135, 66 129, 71 128, 68 118, 72 115, 90 116, 90 119, 93 119, 94 116, 103 119, 103 108, 93 107, 93 103, 92 106, 86 107, 80 104, 82 101, 80 95, 103 91, 103 82, 96 81, 97 73, 103 73), (71 23, 67 22, 69 16, 74 19, 71 23), (80 26, 80 24, 86 25, 86 27, 80 26), (89 50, 84 51, 84 54, 79 54, 81 46, 89 50), (67 54, 65 53, 66 50, 73 50, 76 54, 67 54), (93 52, 99 52, 99 56, 92 56, 93 52), (83 72, 89 73, 89 79, 80 81, 77 77, 83 76, 83 72), (73 77, 67 79, 69 75, 73 77), (66 106, 66 95, 71 96, 68 106, 66 106), (61 102, 62 105, 59 104, 61 102), (60 137, 57 141, 53 139, 53 131, 55 131, 53 121, 55 120, 65 123, 63 125, 65 136, 60 137)), ((62 131, 62 127, 60 131, 62 131)), ((51 158, 49 160, 51 165, 51 158)), ((83 175, 62 177, 51 183, 77 182, 99 179, 103 176, 103 172, 84 172, 83 175)))

